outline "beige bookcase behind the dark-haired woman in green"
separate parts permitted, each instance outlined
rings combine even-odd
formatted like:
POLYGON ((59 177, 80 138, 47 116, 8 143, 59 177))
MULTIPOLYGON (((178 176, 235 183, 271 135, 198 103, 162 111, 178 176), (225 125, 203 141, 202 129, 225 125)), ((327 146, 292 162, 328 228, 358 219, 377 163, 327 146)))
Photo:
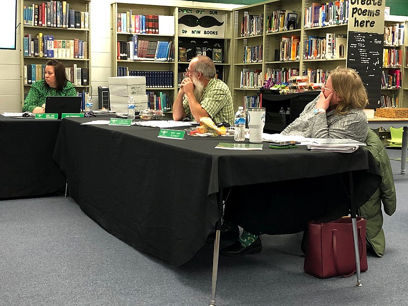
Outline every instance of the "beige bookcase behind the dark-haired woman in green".
POLYGON ((92 90, 90 0, 21 1, 20 20, 21 106, 51 58, 64 64, 79 93, 92 90))

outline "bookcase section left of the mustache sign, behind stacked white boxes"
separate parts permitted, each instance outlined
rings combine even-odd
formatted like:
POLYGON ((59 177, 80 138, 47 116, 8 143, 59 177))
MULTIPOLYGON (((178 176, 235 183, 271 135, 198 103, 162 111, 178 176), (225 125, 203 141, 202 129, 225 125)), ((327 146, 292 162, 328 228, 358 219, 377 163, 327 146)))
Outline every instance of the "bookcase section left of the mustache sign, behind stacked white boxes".
POLYGON ((111 4, 112 76, 144 75, 149 108, 175 97, 175 16, 171 6, 111 4))

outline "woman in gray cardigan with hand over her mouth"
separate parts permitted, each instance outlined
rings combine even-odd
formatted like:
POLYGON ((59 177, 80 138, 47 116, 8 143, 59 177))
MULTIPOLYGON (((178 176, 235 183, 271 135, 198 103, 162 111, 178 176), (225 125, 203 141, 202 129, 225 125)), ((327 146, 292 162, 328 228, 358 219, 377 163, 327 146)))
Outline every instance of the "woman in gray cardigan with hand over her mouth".
MULTIPOLYGON (((337 67, 330 71, 319 96, 281 134, 309 138, 350 138, 364 142, 367 138, 367 117, 363 111, 366 105, 367 91, 359 74, 350 68, 337 67)), ((224 232, 239 233, 237 225, 225 220, 224 232)), ((226 256, 243 256, 261 250, 259 236, 244 230, 235 243, 221 252, 226 256)))

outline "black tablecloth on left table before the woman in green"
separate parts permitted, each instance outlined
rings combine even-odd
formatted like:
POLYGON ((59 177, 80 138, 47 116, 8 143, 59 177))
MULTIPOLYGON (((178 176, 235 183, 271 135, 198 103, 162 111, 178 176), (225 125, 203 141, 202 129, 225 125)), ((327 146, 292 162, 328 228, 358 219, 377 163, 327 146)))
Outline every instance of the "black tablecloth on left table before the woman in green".
POLYGON ((0 198, 63 189, 65 175, 53 160, 61 120, 0 115, 0 198))

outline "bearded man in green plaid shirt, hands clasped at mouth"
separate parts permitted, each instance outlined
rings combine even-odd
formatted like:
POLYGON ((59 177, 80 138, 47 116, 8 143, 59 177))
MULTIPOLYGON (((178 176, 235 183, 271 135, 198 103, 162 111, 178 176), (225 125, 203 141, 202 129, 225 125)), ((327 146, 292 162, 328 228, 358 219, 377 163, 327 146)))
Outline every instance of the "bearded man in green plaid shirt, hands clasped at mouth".
POLYGON ((200 121, 210 117, 214 123, 234 124, 233 99, 230 89, 215 79, 214 62, 207 56, 193 58, 186 69, 179 93, 173 104, 173 119, 200 121))

